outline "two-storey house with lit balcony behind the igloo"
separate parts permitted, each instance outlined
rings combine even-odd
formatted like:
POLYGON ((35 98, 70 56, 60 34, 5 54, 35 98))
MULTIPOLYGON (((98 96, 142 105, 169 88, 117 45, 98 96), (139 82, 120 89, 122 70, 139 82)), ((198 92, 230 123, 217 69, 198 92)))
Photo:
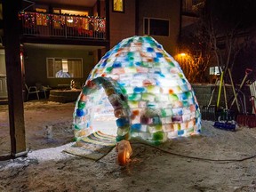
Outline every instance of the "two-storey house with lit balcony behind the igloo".
MULTIPOLYGON (((73 79, 81 86, 104 53, 126 37, 153 36, 167 52, 177 52, 180 0, 23 0, 19 20, 26 84, 60 88, 73 79), (58 76, 61 71, 68 76, 58 76)), ((0 75, 6 75, 3 66, 0 75)))

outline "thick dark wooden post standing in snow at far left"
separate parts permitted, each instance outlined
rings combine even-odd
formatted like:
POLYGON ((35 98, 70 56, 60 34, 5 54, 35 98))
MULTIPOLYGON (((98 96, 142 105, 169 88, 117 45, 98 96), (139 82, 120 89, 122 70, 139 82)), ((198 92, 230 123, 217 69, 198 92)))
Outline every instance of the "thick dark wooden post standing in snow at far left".
POLYGON ((11 156, 26 156, 26 138, 23 107, 23 76, 20 62, 21 0, 3 1, 4 50, 8 87, 11 156))

